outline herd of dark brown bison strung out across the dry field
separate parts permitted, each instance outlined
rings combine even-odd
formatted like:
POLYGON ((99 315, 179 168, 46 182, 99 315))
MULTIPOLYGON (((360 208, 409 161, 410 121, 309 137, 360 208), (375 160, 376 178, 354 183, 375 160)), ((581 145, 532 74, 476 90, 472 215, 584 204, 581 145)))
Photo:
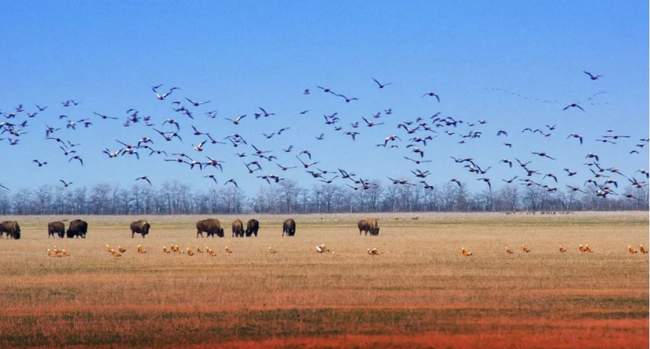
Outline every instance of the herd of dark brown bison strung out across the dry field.
MULTIPOLYGON (((379 235, 379 223, 377 219, 362 219, 359 221, 359 235, 377 236, 379 235)), ((131 223, 131 238, 135 234, 140 234, 143 238, 149 234, 151 224, 146 220, 137 220, 131 223)), ((257 219, 249 219, 244 227, 244 222, 240 219, 235 219, 232 222, 232 237, 257 237, 260 229, 260 222, 257 219)), ((214 237, 215 235, 222 238, 224 237, 224 229, 221 222, 216 218, 203 219, 196 222, 196 237, 214 237)), ((0 236, 5 235, 6 238, 20 239, 20 226, 16 221, 4 221, 0 223, 0 236)), ((50 222, 47 224, 47 235, 52 238, 86 238, 88 234, 88 223, 81 219, 75 219, 68 223, 68 229, 65 229, 63 221, 50 222)), ((296 235, 296 221, 292 218, 285 220, 282 223, 282 236, 295 236, 296 235)))

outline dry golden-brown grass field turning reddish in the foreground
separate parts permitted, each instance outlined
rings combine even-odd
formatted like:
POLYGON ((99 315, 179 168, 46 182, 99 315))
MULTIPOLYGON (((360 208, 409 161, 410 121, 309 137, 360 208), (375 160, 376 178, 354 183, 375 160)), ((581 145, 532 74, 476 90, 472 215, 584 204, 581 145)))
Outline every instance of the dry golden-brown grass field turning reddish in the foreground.
POLYGON ((360 215, 296 215, 294 238, 285 216, 256 216, 245 239, 216 217, 225 238, 195 238, 205 217, 145 217, 146 239, 128 229, 142 217, 81 217, 85 240, 47 237, 77 217, 0 217, 23 230, 0 240, 0 347, 648 347, 648 255, 627 250, 648 246, 647 213, 373 215, 379 237, 359 236, 360 215), (174 243, 217 254, 162 252, 174 243))

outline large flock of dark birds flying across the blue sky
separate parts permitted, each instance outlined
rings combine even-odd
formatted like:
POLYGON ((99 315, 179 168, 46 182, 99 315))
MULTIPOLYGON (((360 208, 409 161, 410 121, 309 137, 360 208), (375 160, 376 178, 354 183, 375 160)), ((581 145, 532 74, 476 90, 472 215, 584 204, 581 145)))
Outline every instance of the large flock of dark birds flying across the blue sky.
MULTIPOLYGON (((584 74, 592 81, 599 80, 602 77, 602 75, 587 71, 584 71, 584 74)), ((390 88, 392 85, 390 82, 381 82, 375 78, 372 78, 372 82, 380 90, 390 88)), ((248 174, 256 176, 269 184, 279 183, 287 178, 280 174, 290 170, 302 169, 315 180, 325 184, 341 181, 354 190, 367 190, 376 185, 370 179, 358 176, 351 169, 322 169, 322 166, 319 166, 321 162, 315 159, 312 151, 309 149, 298 149, 295 145, 287 145, 280 150, 272 150, 259 145, 258 140, 260 139, 280 139, 291 129, 290 126, 280 127, 272 132, 264 132, 255 137, 244 137, 239 132, 224 136, 208 132, 207 130, 201 130, 193 122, 195 118, 199 117, 198 114, 202 114, 202 117, 209 119, 217 119, 220 118, 218 112, 216 110, 204 110, 204 106, 211 104, 209 100, 199 101, 187 96, 180 96, 182 91, 180 87, 165 88, 163 84, 151 87, 153 97, 159 103, 166 103, 171 108, 171 112, 174 113, 174 117, 161 120, 155 119, 150 115, 141 115, 141 112, 136 108, 127 109, 123 118, 93 112, 92 116, 77 119, 70 114, 75 113, 75 108, 79 105, 79 102, 74 99, 65 100, 61 102, 65 113, 61 113, 55 119, 48 117, 45 122, 44 140, 48 146, 56 147, 66 157, 68 163, 83 167, 85 163, 81 155, 80 144, 73 142, 72 139, 75 137, 65 137, 63 133, 67 133, 65 131, 74 132, 78 129, 94 127, 99 122, 119 122, 122 119, 122 125, 124 127, 144 125, 148 134, 136 140, 115 139, 114 146, 107 147, 102 151, 102 154, 108 159, 122 157, 141 159, 144 156, 148 156, 159 158, 160 161, 186 166, 189 170, 196 169, 204 171, 206 169, 214 169, 223 172, 225 161, 203 154, 208 152, 207 148, 213 145, 222 147, 230 146, 234 150, 235 157, 241 159, 241 166, 246 169, 248 174), (50 126, 50 124, 55 124, 55 126, 50 126), (183 138, 185 134, 182 135, 181 131, 184 129, 191 130, 191 136, 196 139, 196 141, 192 141, 191 146, 184 146, 184 151, 172 152, 165 150, 160 145, 169 144, 170 146, 176 146, 183 144, 185 142, 183 138), (253 140, 257 144, 254 144, 253 140), (281 162, 280 156, 288 156, 292 162, 281 162)), ((323 94, 327 98, 338 99, 344 103, 353 103, 359 100, 358 97, 339 93, 332 88, 320 85, 314 91, 312 89, 304 89, 302 92, 303 95, 312 95, 315 93, 323 94)), ((425 91, 421 94, 421 98, 430 99, 434 105, 442 101, 441 96, 436 91, 425 91)), ((45 113, 47 109, 47 106, 37 104, 35 105, 35 109, 32 110, 23 104, 19 104, 9 112, 0 112, 0 142, 6 142, 5 144, 10 147, 20 145, 21 137, 28 133, 27 130, 32 120, 39 114, 45 113)), ((567 112, 570 110, 585 112, 584 107, 578 102, 566 104, 561 110, 567 112)), ((309 112, 310 110, 303 110, 298 115, 305 116, 309 112)), ((358 120, 347 123, 347 125, 338 112, 324 114, 322 117, 325 128, 331 128, 334 132, 348 136, 352 141, 356 141, 364 128, 388 127, 386 123, 390 120, 392 114, 392 108, 382 108, 380 111, 363 116, 358 120)), ((258 107, 252 115, 240 114, 220 119, 231 123, 234 127, 240 127, 240 125, 246 122, 273 118, 275 115, 274 112, 269 111, 267 108, 258 107)), ((422 185, 425 190, 434 189, 434 186, 427 181, 427 178, 433 173, 431 170, 426 170, 421 167, 424 164, 432 162, 432 160, 426 159, 425 157, 427 146, 433 143, 435 138, 440 136, 456 137, 457 143, 459 144, 471 142, 487 133, 483 129, 483 125, 487 123, 486 120, 467 121, 452 116, 443 116, 440 112, 429 117, 401 120, 396 125, 395 133, 391 133, 381 139, 376 143, 376 147, 403 150, 403 159, 416 168, 410 171, 413 179, 406 177, 388 177, 388 180, 395 185, 422 185)), ((554 131, 556 131, 556 125, 544 125, 541 128, 524 128, 521 130, 521 133, 538 135, 545 139, 552 136, 554 131)), ((509 131, 498 129, 494 135, 497 138, 503 139, 502 144, 504 147, 513 147, 513 144, 508 141, 509 131)), ((580 145, 586 141, 585 137, 579 133, 570 133, 566 138, 575 140, 580 145)), ((618 134, 614 130, 606 130, 596 141, 615 145, 628 138, 631 138, 631 136, 618 134)), ((325 133, 322 132, 316 135, 314 139, 317 142, 325 140, 325 133)), ((634 142, 634 148, 629 150, 629 153, 638 154, 648 146, 648 142, 648 138, 638 139, 634 142)), ((544 151, 532 152, 530 156, 540 161, 556 160, 554 155, 544 151)), ((490 192, 492 191, 494 179, 488 177, 488 172, 492 168, 491 166, 485 166, 478 159, 472 157, 450 156, 450 159, 453 161, 451 164, 455 164, 463 170, 468 171, 475 176, 477 181, 485 183, 490 192)), ((586 153, 585 161, 585 172, 589 174, 585 185, 586 187, 592 186, 595 195, 602 198, 623 196, 630 199, 639 199, 630 193, 617 192, 617 188, 622 184, 621 182, 628 183, 635 188, 643 188, 647 185, 643 177, 647 180, 650 175, 645 169, 639 169, 634 174, 624 174, 616 167, 604 165, 599 155, 595 153, 586 153), (637 178, 639 176, 642 176, 640 177, 641 179, 637 178)), ((48 166, 47 159, 32 159, 31 162, 39 168, 48 166)), ((500 159, 498 164, 499 166, 507 166, 507 168, 513 171, 519 171, 510 178, 501 179, 502 182, 507 184, 517 183, 525 187, 539 187, 551 193, 558 191, 561 176, 573 177, 578 174, 578 170, 571 168, 564 168, 562 174, 543 171, 539 167, 534 166, 532 160, 521 160, 516 157, 500 159)), ((206 180, 218 184, 221 179, 218 179, 215 173, 216 171, 211 174, 204 174, 203 177, 206 180)), ((152 179, 148 175, 138 176, 134 180, 152 184, 152 179)), ((65 188, 73 184, 71 181, 65 179, 60 179, 59 182, 65 188)), ((463 185, 461 180, 457 178, 452 178, 449 182, 459 187, 463 185)), ((223 180, 223 184, 239 187, 235 178, 225 179, 223 180)), ((584 188, 585 186, 566 185, 566 189, 570 192, 585 193, 584 188)), ((0 190, 2 189, 9 190, 8 187, 0 183, 0 190)))

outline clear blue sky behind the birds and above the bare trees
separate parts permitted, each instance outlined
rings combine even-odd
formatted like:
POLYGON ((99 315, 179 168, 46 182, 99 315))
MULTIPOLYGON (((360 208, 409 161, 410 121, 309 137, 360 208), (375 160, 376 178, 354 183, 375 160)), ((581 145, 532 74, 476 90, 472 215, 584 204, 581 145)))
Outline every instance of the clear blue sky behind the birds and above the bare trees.
MULTIPOLYGON (((59 179, 131 185, 143 175, 155 184, 177 179, 200 188, 211 185, 202 177, 208 173, 217 175, 219 185, 234 177, 250 194, 264 185, 234 155, 250 153, 249 148, 209 144, 203 154, 194 152, 192 145, 203 137, 191 135, 192 124, 221 138, 241 133, 249 143, 273 150, 284 165, 296 164, 294 154, 280 150, 293 144, 310 149, 323 169, 413 180, 415 166, 402 156, 416 155, 404 149, 408 136, 395 126, 435 112, 487 124, 459 127, 459 133, 483 131, 467 144, 439 130, 425 148, 424 158, 433 162, 420 167, 433 172, 428 178, 433 184, 456 177, 482 188, 450 155, 492 166, 488 175, 495 183, 522 175, 499 164, 501 158, 532 159, 533 167, 557 174, 563 167, 586 172, 588 152, 629 174, 648 167, 647 146, 628 154, 648 136, 647 1, 2 1, 2 9, 0 110, 11 112, 21 103, 30 112, 35 104, 49 106, 29 119, 18 145, 0 141, 0 184, 12 189, 56 185, 59 179), (583 70, 603 77, 591 81, 583 70), (392 85, 378 89, 371 77, 392 85), (150 89, 160 83, 182 89, 161 102, 150 89), (345 103, 316 85, 360 100, 345 103), (303 95, 305 88, 312 94, 303 95), (421 97, 427 91, 436 91, 441 102, 421 97), (211 103, 194 108, 196 119, 189 120, 169 104, 183 97, 211 103), (80 104, 64 108, 66 99, 80 104), (586 111, 562 111, 573 102, 586 111), (254 120, 258 106, 276 115, 254 120), (142 124, 123 127, 128 108, 151 115, 157 127, 169 117, 182 122, 183 142, 165 143, 142 124), (355 142, 324 125, 323 114, 338 112, 347 131, 350 122, 386 108, 393 109, 382 118, 386 124, 360 127, 355 142), (310 112, 298 115, 306 109, 310 112), (218 110, 218 117, 205 117, 208 110, 218 110), (98 120, 93 111, 120 121, 98 120), (84 167, 69 163, 54 142, 44 140, 44 124, 64 127, 60 114, 93 118, 88 129, 57 133, 81 143, 84 167), (249 116, 239 126, 224 120, 240 114, 249 116), (546 124, 557 125, 549 138, 520 133, 546 124), (285 126, 291 129, 280 137, 261 136, 285 126), (497 138, 497 129, 507 130, 509 138, 497 138), (606 129, 632 138, 596 143, 606 129), (317 141, 321 132, 324 140, 317 141), (584 135, 585 144, 566 139, 572 132, 584 135), (390 134, 402 137, 400 149, 375 147, 390 134), (224 160, 224 173, 190 171, 145 151, 140 161, 101 154, 106 147, 118 148, 115 139, 135 143, 142 136, 153 138, 156 148, 224 160), (505 141, 513 149, 505 148, 505 141), (535 158, 531 151, 557 160, 535 158), (32 159, 49 164, 37 168, 32 159)), ((301 169, 282 173, 265 167, 264 173, 306 187, 317 183, 301 169)), ((581 173, 560 185, 579 185, 586 178, 581 173)))

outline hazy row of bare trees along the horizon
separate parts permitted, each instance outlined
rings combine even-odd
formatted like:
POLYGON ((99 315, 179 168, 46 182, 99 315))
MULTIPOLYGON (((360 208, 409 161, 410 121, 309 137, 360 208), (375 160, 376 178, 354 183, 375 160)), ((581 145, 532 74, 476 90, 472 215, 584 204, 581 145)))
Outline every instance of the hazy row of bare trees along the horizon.
POLYGON ((293 181, 261 187, 247 196, 236 187, 194 189, 183 183, 161 186, 136 184, 129 188, 109 184, 91 187, 41 186, 0 192, 0 214, 210 214, 210 213, 337 213, 337 212, 486 212, 647 210, 648 188, 628 187, 606 199, 584 187, 580 192, 548 192, 544 188, 504 186, 494 192, 470 193, 445 184, 382 185, 354 190, 334 184, 303 188, 293 181))

